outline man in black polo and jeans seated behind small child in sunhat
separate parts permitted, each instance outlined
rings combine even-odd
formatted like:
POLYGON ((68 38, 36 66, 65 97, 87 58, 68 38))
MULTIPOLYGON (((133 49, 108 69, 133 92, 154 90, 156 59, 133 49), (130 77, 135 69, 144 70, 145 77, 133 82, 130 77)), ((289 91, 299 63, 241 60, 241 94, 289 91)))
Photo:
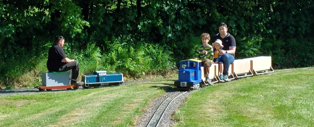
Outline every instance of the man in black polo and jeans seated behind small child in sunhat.
POLYGON ((212 43, 214 43, 217 39, 220 39, 222 45, 224 45, 224 48, 219 52, 219 55, 222 55, 220 60, 224 63, 223 79, 225 80, 228 79, 229 66, 235 60, 236 53, 236 40, 227 31, 227 25, 225 23, 220 23, 219 33, 216 34, 212 40, 212 43))

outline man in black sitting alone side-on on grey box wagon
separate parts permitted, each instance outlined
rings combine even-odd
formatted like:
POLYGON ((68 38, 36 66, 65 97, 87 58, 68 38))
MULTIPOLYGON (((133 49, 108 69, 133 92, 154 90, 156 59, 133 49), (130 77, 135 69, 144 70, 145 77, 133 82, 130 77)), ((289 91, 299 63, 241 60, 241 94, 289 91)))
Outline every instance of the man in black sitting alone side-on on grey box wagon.
POLYGON ((55 44, 48 51, 47 68, 48 71, 62 72, 72 69, 71 85, 83 85, 77 81, 79 64, 74 59, 69 59, 63 50, 64 37, 56 36, 55 44))

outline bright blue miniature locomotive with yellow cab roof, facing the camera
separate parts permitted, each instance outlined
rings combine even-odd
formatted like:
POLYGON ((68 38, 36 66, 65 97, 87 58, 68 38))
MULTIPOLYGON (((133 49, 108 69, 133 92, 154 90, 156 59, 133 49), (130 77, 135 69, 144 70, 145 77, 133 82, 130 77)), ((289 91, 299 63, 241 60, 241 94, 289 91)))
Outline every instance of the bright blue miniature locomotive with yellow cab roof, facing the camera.
POLYGON ((180 61, 179 79, 175 82, 177 88, 197 89, 202 83, 201 61, 189 59, 180 61))

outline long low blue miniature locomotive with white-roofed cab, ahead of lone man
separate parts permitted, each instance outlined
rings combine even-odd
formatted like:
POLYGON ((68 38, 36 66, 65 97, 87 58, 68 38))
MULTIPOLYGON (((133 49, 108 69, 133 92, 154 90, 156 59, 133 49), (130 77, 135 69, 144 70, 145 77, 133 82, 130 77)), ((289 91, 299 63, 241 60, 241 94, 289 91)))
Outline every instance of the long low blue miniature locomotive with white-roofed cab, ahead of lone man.
POLYGON ((123 82, 122 73, 108 73, 107 71, 94 71, 92 75, 83 75, 83 88, 100 87, 102 85, 120 84, 123 82))

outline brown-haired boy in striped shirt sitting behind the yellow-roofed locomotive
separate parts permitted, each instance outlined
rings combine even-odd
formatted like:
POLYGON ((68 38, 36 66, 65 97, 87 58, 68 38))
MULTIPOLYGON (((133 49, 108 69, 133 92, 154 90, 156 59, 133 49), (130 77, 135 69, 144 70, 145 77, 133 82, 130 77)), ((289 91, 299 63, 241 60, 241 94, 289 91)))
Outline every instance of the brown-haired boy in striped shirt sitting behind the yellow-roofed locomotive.
POLYGON ((209 67, 212 66, 213 63, 213 47, 208 45, 208 41, 210 40, 210 35, 208 33, 203 33, 201 35, 201 40, 203 45, 196 49, 194 59, 202 60, 202 64, 204 65, 204 72, 206 75, 206 82, 210 83, 209 67))

